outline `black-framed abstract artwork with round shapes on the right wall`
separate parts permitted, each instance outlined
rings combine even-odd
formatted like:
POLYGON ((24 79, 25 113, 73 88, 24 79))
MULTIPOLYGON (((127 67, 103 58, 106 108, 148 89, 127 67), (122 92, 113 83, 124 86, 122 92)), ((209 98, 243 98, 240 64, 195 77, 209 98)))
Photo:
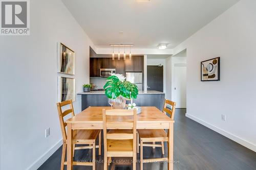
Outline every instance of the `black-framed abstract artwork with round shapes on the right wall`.
POLYGON ((220 81, 220 57, 201 62, 201 81, 220 81))

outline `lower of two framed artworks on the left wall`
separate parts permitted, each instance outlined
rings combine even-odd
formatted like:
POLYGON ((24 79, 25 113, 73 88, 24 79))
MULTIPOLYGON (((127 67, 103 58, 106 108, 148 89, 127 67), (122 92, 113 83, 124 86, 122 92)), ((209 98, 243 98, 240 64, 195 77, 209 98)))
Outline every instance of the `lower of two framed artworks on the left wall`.
POLYGON ((75 101, 75 79, 58 77, 58 101, 75 101))

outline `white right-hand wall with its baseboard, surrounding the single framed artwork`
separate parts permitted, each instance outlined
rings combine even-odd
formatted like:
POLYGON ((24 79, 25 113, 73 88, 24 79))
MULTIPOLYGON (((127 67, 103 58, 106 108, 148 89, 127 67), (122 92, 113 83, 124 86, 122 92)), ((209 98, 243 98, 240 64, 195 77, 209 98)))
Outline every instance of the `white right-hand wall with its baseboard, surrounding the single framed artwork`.
POLYGON ((187 116, 256 151, 256 1, 242 0, 174 49, 187 48, 187 116), (200 62, 221 57, 221 81, 200 62), (226 122, 221 120, 226 114, 226 122))

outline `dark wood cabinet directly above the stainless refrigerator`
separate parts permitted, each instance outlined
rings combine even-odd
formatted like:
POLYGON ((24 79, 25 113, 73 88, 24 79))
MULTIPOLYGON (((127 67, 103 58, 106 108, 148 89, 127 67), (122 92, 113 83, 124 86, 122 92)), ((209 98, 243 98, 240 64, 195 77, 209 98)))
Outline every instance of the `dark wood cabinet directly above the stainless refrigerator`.
POLYGON ((132 60, 125 60, 125 72, 143 72, 143 56, 133 56, 132 60))

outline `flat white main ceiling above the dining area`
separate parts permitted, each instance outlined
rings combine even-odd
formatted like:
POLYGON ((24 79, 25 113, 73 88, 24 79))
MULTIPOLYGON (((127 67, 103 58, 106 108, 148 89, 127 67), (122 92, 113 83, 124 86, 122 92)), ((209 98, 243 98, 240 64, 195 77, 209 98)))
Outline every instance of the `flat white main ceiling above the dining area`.
POLYGON ((173 48, 239 0, 62 0, 97 48, 173 48))

